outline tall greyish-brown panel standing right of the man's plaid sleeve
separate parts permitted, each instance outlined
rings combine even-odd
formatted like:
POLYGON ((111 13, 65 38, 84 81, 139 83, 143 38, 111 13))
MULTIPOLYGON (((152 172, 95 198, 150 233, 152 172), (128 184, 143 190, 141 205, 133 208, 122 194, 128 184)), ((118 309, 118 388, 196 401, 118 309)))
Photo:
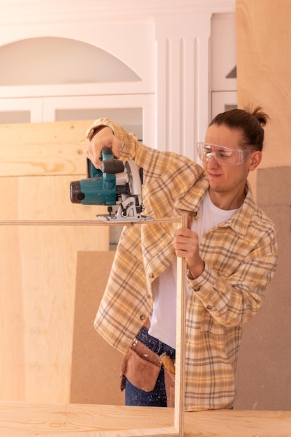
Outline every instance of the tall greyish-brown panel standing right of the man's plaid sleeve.
POLYGON ((239 409, 291 410, 290 193, 290 167, 258 170, 258 202, 278 228, 280 259, 260 313, 244 327, 237 366, 239 409))

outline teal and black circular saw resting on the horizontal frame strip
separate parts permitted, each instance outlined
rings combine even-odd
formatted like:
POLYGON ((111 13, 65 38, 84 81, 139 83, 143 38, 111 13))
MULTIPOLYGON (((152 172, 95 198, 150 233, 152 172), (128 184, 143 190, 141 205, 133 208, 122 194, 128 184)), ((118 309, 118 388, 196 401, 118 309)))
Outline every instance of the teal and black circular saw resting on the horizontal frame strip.
POLYGON ((142 169, 135 161, 114 158, 112 149, 101 151, 100 170, 87 158, 87 179, 70 182, 70 201, 82 205, 107 205, 108 214, 99 214, 105 221, 150 220, 142 216, 142 169), (112 214, 113 206, 117 211, 112 214))

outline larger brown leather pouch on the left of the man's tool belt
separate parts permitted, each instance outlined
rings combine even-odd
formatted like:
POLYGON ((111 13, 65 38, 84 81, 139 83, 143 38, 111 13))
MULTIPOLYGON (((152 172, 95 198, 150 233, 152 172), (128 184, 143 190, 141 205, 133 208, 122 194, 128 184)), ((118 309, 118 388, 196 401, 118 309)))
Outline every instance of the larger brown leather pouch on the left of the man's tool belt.
POLYGON ((121 391, 124 390, 126 376, 135 387, 151 392, 156 385, 161 366, 158 354, 134 339, 121 363, 121 391))

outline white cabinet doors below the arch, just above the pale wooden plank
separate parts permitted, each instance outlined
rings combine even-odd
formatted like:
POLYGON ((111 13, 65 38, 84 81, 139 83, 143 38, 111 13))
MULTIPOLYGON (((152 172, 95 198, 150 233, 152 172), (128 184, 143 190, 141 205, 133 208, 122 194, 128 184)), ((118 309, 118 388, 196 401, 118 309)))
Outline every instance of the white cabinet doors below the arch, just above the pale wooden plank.
POLYGON ((116 96, 59 96, 0 99, 0 123, 40 123, 51 121, 91 120, 107 117, 126 130, 135 132, 146 144, 155 142, 154 94, 116 96))

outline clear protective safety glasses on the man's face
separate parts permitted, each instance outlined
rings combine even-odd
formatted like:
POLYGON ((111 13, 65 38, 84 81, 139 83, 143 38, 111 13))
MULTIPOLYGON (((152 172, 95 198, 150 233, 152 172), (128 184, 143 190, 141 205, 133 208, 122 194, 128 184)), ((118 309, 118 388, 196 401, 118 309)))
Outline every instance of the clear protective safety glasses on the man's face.
POLYGON ((211 142, 197 142, 197 155, 202 162, 207 162, 214 157, 218 165, 232 167, 246 161, 253 151, 249 149, 232 149, 232 147, 218 146, 211 142))

